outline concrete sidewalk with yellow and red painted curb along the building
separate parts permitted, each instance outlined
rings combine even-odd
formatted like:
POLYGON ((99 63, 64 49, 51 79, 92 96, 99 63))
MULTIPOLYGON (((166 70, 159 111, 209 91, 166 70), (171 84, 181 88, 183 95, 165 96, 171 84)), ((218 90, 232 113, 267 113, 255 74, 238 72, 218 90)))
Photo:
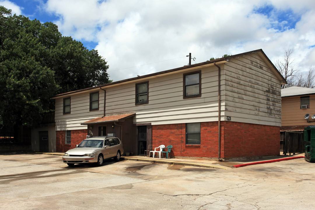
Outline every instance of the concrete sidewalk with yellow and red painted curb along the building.
MULTIPOLYGON (((59 152, 35 152, 35 153, 46 154, 46 155, 59 155, 59 156, 62 156, 64 154, 64 153, 59 153, 59 152)), ((144 156, 122 156, 121 157, 121 159, 123 160, 162 163, 162 164, 171 164, 171 165, 183 165, 183 166, 193 166, 193 167, 204 167, 204 168, 217 168, 217 169, 244 167, 244 166, 249 166, 249 165, 293 160, 296 158, 304 158, 304 153, 299 153, 295 155, 279 155, 279 156, 272 156, 272 157, 261 158, 261 159, 243 160, 243 161, 238 161, 238 162, 219 162, 219 161, 180 159, 180 158, 166 159, 166 158, 157 158, 157 157, 153 158, 153 157, 144 157, 144 156)))

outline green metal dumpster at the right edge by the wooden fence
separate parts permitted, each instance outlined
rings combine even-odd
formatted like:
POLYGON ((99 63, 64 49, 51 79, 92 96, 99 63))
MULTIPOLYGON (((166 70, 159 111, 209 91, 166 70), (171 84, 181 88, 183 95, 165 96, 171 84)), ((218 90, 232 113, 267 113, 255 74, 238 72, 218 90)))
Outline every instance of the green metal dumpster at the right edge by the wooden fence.
POLYGON ((315 126, 304 128, 304 151, 305 160, 315 162, 315 126))

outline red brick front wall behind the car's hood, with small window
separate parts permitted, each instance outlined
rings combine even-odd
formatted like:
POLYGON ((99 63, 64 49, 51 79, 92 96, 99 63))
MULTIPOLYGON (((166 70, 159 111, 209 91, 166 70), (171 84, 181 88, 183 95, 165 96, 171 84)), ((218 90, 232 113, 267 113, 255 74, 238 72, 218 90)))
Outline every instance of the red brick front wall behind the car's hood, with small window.
POLYGON ((56 152, 66 152, 86 139, 87 129, 71 130, 71 144, 66 145, 66 131, 56 131, 56 152))

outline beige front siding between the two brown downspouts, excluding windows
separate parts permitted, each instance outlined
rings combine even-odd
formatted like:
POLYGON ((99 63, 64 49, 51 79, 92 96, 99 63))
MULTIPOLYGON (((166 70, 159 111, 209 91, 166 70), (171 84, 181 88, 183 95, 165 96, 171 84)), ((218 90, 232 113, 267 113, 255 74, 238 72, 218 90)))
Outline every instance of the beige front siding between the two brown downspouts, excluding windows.
POLYGON ((150 79, 149 103, 144 105, 135 105, 135 82, 107 88, 106 115, 135 112, 134 123, 152 125, 217 121, 217 68, 202 69, 202 95, 192 99, 183 99, 183 73, 150 79))

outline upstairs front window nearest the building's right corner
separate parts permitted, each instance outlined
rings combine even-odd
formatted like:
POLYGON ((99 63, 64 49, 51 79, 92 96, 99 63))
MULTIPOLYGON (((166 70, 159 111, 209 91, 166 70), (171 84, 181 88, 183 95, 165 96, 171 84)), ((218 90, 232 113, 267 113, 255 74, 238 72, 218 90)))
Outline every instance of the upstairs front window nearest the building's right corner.
POLYGON ((184 74, 184 98, 201 96, 201 72, 184 74))

